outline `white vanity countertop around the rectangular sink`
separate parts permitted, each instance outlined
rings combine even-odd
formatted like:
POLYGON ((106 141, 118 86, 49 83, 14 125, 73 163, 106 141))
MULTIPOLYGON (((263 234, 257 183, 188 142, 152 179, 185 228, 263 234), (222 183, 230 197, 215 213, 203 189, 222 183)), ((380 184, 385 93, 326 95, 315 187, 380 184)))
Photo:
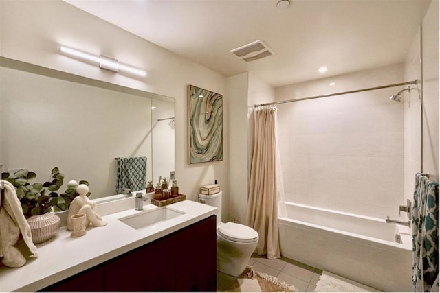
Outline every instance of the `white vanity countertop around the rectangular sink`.
MULTIPOLYGON (((104 215, 107 226, 87 228, 87 233, 78 238, 70 237, 71 231, 63 226, 52 239, 36 244, 38 257, 28 259, 21 268, 0 267, 0 292, 35 292, 48 285, 87 270, 104 261, 122 255, 181 228, 195 224, 217 212, 217 208, 184 200, 169 207, 183 211, 179 217, 157 222, 135 230, 119 218, 135 213, 133 209, 104 215)), ((144 210, 159 209, 153 204, 144 205, 144 210)))

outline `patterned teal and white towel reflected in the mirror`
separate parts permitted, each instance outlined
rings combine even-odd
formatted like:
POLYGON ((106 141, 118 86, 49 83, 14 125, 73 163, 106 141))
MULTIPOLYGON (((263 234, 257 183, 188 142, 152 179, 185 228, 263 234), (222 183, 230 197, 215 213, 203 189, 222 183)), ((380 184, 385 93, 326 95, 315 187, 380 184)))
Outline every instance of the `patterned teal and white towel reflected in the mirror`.
POLYGON ((116 160, 116 193, 124 189, 132 191, 146 187, 146 156, 136 158, 115 158, 116 160))

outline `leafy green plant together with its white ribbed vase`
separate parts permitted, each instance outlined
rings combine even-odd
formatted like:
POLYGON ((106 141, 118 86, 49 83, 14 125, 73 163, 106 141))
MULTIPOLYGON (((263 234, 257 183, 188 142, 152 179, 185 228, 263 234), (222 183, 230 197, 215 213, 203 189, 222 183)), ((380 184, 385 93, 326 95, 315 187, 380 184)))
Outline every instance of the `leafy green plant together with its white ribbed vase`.
MULTIPOLYGON (((12 175, 8 172, 1 174, 2 180, 14 185, 23 214, 31 227, 32 241, 38 244, 50 239, 60 227, 61 219, 51 212, 65 211, 78 194, 75 190, 76 185, 70 182, 66 191, 58 195, 56 191, 63 186, 64 180, 64 174, 60 173, 58 167, 52 169, 50 180, 45 183, 30 183, 34 178, 36 178, 35 172, 28 169, 19 169, 12 175)), ((80 183, 89 185, 84 180, 80 183)))

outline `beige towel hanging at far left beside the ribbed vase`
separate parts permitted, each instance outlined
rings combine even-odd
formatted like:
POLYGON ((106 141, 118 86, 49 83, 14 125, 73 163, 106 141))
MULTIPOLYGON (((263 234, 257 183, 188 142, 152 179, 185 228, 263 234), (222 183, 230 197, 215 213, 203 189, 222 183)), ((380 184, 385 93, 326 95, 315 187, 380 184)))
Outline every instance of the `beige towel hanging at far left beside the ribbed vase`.
POLYGON ((0 257, 5 266, 18 268, 26 263, 25 257, 36 257, 36 247, 14 186, 8 181, 3 181, 3 184, 4 194, 0 198, 0 257), (20 243, 22 241, 24 245, 20 243))

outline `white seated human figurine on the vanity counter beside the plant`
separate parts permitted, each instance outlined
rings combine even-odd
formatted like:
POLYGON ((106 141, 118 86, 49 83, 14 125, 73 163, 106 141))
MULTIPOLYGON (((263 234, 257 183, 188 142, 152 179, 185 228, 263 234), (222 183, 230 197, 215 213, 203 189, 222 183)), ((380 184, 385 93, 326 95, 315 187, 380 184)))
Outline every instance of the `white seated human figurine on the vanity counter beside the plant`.
POLYGON ((78 192, 79 195, 76 196, 70 204, 67 216, 67 229, 72 231, 73 227, 70 217, 77 213, 85 213, 87 218, 85 222, 86 227, 89 226, 90 223, 96 227, 107 225, 107 222, 102 221, 102 218, 96 211, 96 202, 89 200, 86 196, 87 192, 89 192, 89 187, 85 184, 80 184, 76 187, 76 192, 78 192))

